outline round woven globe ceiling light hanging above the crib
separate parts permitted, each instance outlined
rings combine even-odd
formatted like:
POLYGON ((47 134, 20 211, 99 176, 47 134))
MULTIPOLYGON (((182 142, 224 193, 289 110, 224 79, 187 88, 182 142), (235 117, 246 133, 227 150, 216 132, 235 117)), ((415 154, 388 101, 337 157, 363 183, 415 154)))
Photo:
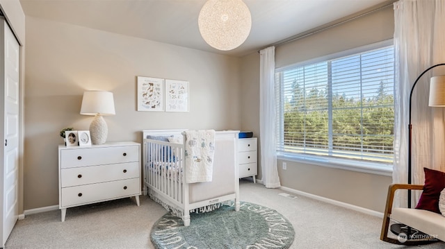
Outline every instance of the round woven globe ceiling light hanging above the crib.
POLYGON ((209 0, 202 6, 198 26, 207 44, 228 51, 245 42, 252 17, 242 0, 209 0))

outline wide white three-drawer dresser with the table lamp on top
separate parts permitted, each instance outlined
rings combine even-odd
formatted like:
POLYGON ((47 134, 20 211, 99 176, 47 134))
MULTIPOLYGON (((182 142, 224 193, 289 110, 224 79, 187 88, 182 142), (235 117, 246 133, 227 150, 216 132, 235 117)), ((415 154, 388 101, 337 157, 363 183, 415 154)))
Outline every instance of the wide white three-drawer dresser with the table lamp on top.
POLYGON ((140 196, 140 144, 58 146, 59 209, 140 196))

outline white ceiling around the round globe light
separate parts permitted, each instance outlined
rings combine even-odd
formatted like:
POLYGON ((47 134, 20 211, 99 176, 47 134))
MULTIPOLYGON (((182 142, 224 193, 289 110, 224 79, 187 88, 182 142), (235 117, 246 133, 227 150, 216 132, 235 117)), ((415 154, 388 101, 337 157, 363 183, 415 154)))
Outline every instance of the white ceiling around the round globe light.
POLYGON ((191 49, 242 56, 394 0, 244 0, 248 39, 232 51, 202 40, 197 17, 207 0, 19 0, 26 16, 51 19, 191 49))

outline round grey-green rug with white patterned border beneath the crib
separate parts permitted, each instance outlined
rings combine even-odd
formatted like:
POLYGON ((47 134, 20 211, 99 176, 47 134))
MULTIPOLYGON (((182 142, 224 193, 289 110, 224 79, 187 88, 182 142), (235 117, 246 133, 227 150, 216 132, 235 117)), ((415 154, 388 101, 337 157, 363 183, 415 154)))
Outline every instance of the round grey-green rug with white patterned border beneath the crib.
POLYGON ((292 224, 274 209, 241 202, 239 212, 223 205, 213 212, 191 214, 191 224, 168 213, 153 225, 156 248, 289 248, 292 224))

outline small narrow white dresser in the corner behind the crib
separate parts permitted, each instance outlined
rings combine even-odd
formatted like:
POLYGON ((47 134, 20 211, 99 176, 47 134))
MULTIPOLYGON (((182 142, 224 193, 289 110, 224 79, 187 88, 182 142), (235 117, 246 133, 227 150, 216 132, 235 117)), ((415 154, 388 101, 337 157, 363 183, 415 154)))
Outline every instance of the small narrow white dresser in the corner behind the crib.
POLYGON ((238 139, 238 162, 239 178, 255 176, 258 174, 257 167, 257 137, 238 139))

